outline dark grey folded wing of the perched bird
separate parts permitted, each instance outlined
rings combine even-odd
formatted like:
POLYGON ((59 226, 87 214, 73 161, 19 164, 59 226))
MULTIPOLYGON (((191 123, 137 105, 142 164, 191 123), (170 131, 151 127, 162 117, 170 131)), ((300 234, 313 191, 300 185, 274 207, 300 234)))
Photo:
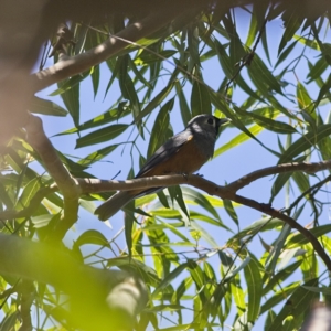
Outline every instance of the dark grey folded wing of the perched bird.
POLYGON ((185 130, 177 134, 163 143, 152 156, 147 160, 145 166, 140 169, 136 178, 142 177, 150 171, 157 164, 166 162, 171 156, 178 152, 178 150, 193 138, 192 132, 185 130))

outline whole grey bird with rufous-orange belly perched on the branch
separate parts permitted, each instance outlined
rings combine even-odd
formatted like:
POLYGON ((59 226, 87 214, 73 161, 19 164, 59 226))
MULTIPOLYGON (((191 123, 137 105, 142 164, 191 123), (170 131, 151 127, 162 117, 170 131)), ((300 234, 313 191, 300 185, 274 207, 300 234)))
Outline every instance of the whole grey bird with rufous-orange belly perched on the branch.
MULTIPOLYGON (((209 114, 193 117, 183 131, 171 137, 146 161, 135 178, 171 173, 189 174, 197 171, 213 157, 220 126, 228 121, 231 119, 217 118, 209 114)), ((162 189, 119 191, 99 205, 95 214, 100 221, 106 221, 131 200, 162 189)))

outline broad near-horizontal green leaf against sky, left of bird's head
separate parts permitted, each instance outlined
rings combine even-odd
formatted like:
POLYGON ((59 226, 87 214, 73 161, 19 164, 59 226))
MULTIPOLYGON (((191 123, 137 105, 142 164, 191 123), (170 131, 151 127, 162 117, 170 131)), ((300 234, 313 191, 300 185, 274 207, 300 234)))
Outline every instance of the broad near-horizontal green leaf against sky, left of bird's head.
POLYGON ((128 125, 121 124, 108 126, 106 128, 93 131, 82 138, 78 138, 76 148, 111 140, 122 134, 128 127, 128 125))

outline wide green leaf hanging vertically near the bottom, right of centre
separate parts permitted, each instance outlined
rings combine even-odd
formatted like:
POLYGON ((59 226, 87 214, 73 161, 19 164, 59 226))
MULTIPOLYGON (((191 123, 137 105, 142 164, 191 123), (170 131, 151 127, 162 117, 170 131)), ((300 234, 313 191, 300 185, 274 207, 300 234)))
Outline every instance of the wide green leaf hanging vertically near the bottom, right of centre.
POLYGON ((249 264, 244 268, 245 280, 247 284, 248 292, 248 322, 254 322, 260 309, 263 282, 259 273, 259 265, 255 258, 252 258, 249 264))

